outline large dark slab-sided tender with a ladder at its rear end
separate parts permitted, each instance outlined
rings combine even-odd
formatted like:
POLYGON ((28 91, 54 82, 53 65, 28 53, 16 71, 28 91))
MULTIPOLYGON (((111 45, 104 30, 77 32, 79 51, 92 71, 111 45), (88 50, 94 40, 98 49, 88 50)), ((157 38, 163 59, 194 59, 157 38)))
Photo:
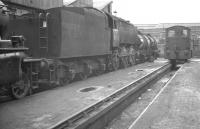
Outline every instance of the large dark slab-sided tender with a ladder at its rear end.
POLYGON ((118 53, 112 50, 119 35, 111 22, 104 12, 80 7, 25 11, 11 17, 6 37, 23 35, 29 48, 21 63, 29 92, 14 97, 22 98, 44 84, 64 85, 118 69, 118 53))

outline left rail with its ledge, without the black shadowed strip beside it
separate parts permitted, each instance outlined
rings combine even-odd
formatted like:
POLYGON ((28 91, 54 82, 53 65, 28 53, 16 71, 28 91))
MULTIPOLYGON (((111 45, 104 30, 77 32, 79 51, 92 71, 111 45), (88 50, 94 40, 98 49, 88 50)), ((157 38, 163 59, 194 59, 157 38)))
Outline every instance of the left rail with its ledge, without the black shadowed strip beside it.
POLYGON ((120 102, 126 100, 126 98, 134 93, 136 93, 142 87, 145 87, 152 80, 156 79, 165 71, 169 70, 170 64, 165 64, 164 66, 156 69, 155 71, 137 79, 134 82, 120 88, 111 95, 105 97, 105 99, 89 105, 83 110, 73 114, 72 116, 56 123, 48 129, 84 129, 88 124, 97 120, 100 116, 112 110, 113 107, 117 106, 120 102), (101 112, 101 113, 100 113, 101 112), (100 113, 98 115, 98 113, 100 113), (91 119, 92 118, 92 119, 91 119))

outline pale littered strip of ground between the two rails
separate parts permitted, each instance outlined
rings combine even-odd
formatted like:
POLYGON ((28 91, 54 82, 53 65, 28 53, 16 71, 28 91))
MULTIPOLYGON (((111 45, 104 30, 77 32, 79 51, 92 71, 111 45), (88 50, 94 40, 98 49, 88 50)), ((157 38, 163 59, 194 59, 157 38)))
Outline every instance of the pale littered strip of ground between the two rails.
POLYGON ((127 107, 127 109, 125 109, 116 119, 114 119, 105 129, 127 129, 154 99, 157 93, 174 75, 174 73, 175 72, 170 72, 166 74, 161 80, 152 85, 133 104, 127 107))

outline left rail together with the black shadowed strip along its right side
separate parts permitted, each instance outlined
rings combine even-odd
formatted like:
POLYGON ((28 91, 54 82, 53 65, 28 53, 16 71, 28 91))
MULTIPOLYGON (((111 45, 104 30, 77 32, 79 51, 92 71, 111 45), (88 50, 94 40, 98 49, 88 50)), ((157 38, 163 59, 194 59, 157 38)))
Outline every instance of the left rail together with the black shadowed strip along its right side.
POLYGON ((102 129, 125 107, 130 105, 153 82, 161 78, 171 65, 166 64, 150 74, 117 90, 105 99, 63 119, 48 129, 102 129))

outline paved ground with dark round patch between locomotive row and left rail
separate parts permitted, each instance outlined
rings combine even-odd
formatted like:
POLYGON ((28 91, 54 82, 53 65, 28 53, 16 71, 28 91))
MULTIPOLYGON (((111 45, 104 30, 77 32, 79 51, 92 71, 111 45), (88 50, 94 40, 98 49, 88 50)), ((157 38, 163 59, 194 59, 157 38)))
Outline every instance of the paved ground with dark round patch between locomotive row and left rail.
POLYGON ((166 64, 139 64, 0 104, 2 129, 46 129, 166 64), (138 70, 142 69, 142 70, 138 70), (9 123, 9 124, 8 124, 9 123))

